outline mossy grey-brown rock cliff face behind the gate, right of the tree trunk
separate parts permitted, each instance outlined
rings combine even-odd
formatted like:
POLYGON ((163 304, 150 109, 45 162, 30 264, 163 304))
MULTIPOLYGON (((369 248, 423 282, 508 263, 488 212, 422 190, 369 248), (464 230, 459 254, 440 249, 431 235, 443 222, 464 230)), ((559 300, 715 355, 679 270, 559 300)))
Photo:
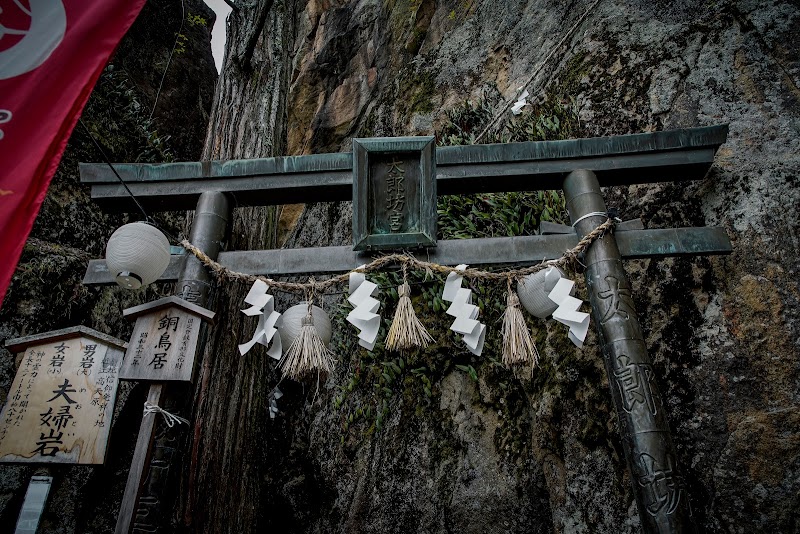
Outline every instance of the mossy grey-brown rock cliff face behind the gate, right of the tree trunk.
MULTIPOLYGON (((539 104, 531 113, 553 102, 570 107, 578 117, 572 134, 729 123, 704 181, 608 190, 606 201, 650 228, 728 229, 730 257, 626 267, 700 528, 797 531, 795 5, 274 2, 243 8, 234 25, 265 6, 295 13, 293 38, 280 37, 294 50, 289 154, 346 151, 354 136, 441 134, 452 130, 446 112, 467 100, 499 112, 529 79, 539 104)), ((253 58, 270 43, 259 35, 253 58)), ((306 206, 288 246, 348 243, 349 217, 346 204, 306 206)), ((394 378, 400 385, 377 400, 360 385, 369 384, 369 356, 340 339, 342 361, 324 387, 281 384, 281 415, 252 422, 265 427, 258 456, 242 460, 264 473, 255 524, 287 532, 638 531, 596 340, 578 351, 560 329, 535 327, 543 363, 532 380, 497 370, 489 359, 496 352, 476 360, 453 345, 439 350, 472 365, 475 379, 452 365, 430 371, 426 396, 403 370, 394 378)), ((496 348, 498 328, 490 335, 496 348)), ((412 367, 430 361, 411 358, 412 367)), ((251 395, 277 383, 264 365, 268 381, 251 395)))

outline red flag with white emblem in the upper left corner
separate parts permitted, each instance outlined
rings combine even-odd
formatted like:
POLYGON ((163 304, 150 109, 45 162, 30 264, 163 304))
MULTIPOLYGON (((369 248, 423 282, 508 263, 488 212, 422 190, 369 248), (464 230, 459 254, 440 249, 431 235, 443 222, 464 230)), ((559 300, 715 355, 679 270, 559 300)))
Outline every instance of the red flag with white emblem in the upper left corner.
POLYGON ((94 84, 145 0, 0 0, 0 305, 94 84))

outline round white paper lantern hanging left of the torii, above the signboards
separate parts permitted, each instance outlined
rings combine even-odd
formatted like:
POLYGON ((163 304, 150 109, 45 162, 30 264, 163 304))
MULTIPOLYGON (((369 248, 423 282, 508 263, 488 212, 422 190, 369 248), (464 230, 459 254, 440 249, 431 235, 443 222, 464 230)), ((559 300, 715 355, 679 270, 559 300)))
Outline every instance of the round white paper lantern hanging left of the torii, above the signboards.
POLYGON ((106 265, 117 284, 138 289, 158 280, 169 266, 169 241, 155 226, 126 224, 111 234, 106 265))

